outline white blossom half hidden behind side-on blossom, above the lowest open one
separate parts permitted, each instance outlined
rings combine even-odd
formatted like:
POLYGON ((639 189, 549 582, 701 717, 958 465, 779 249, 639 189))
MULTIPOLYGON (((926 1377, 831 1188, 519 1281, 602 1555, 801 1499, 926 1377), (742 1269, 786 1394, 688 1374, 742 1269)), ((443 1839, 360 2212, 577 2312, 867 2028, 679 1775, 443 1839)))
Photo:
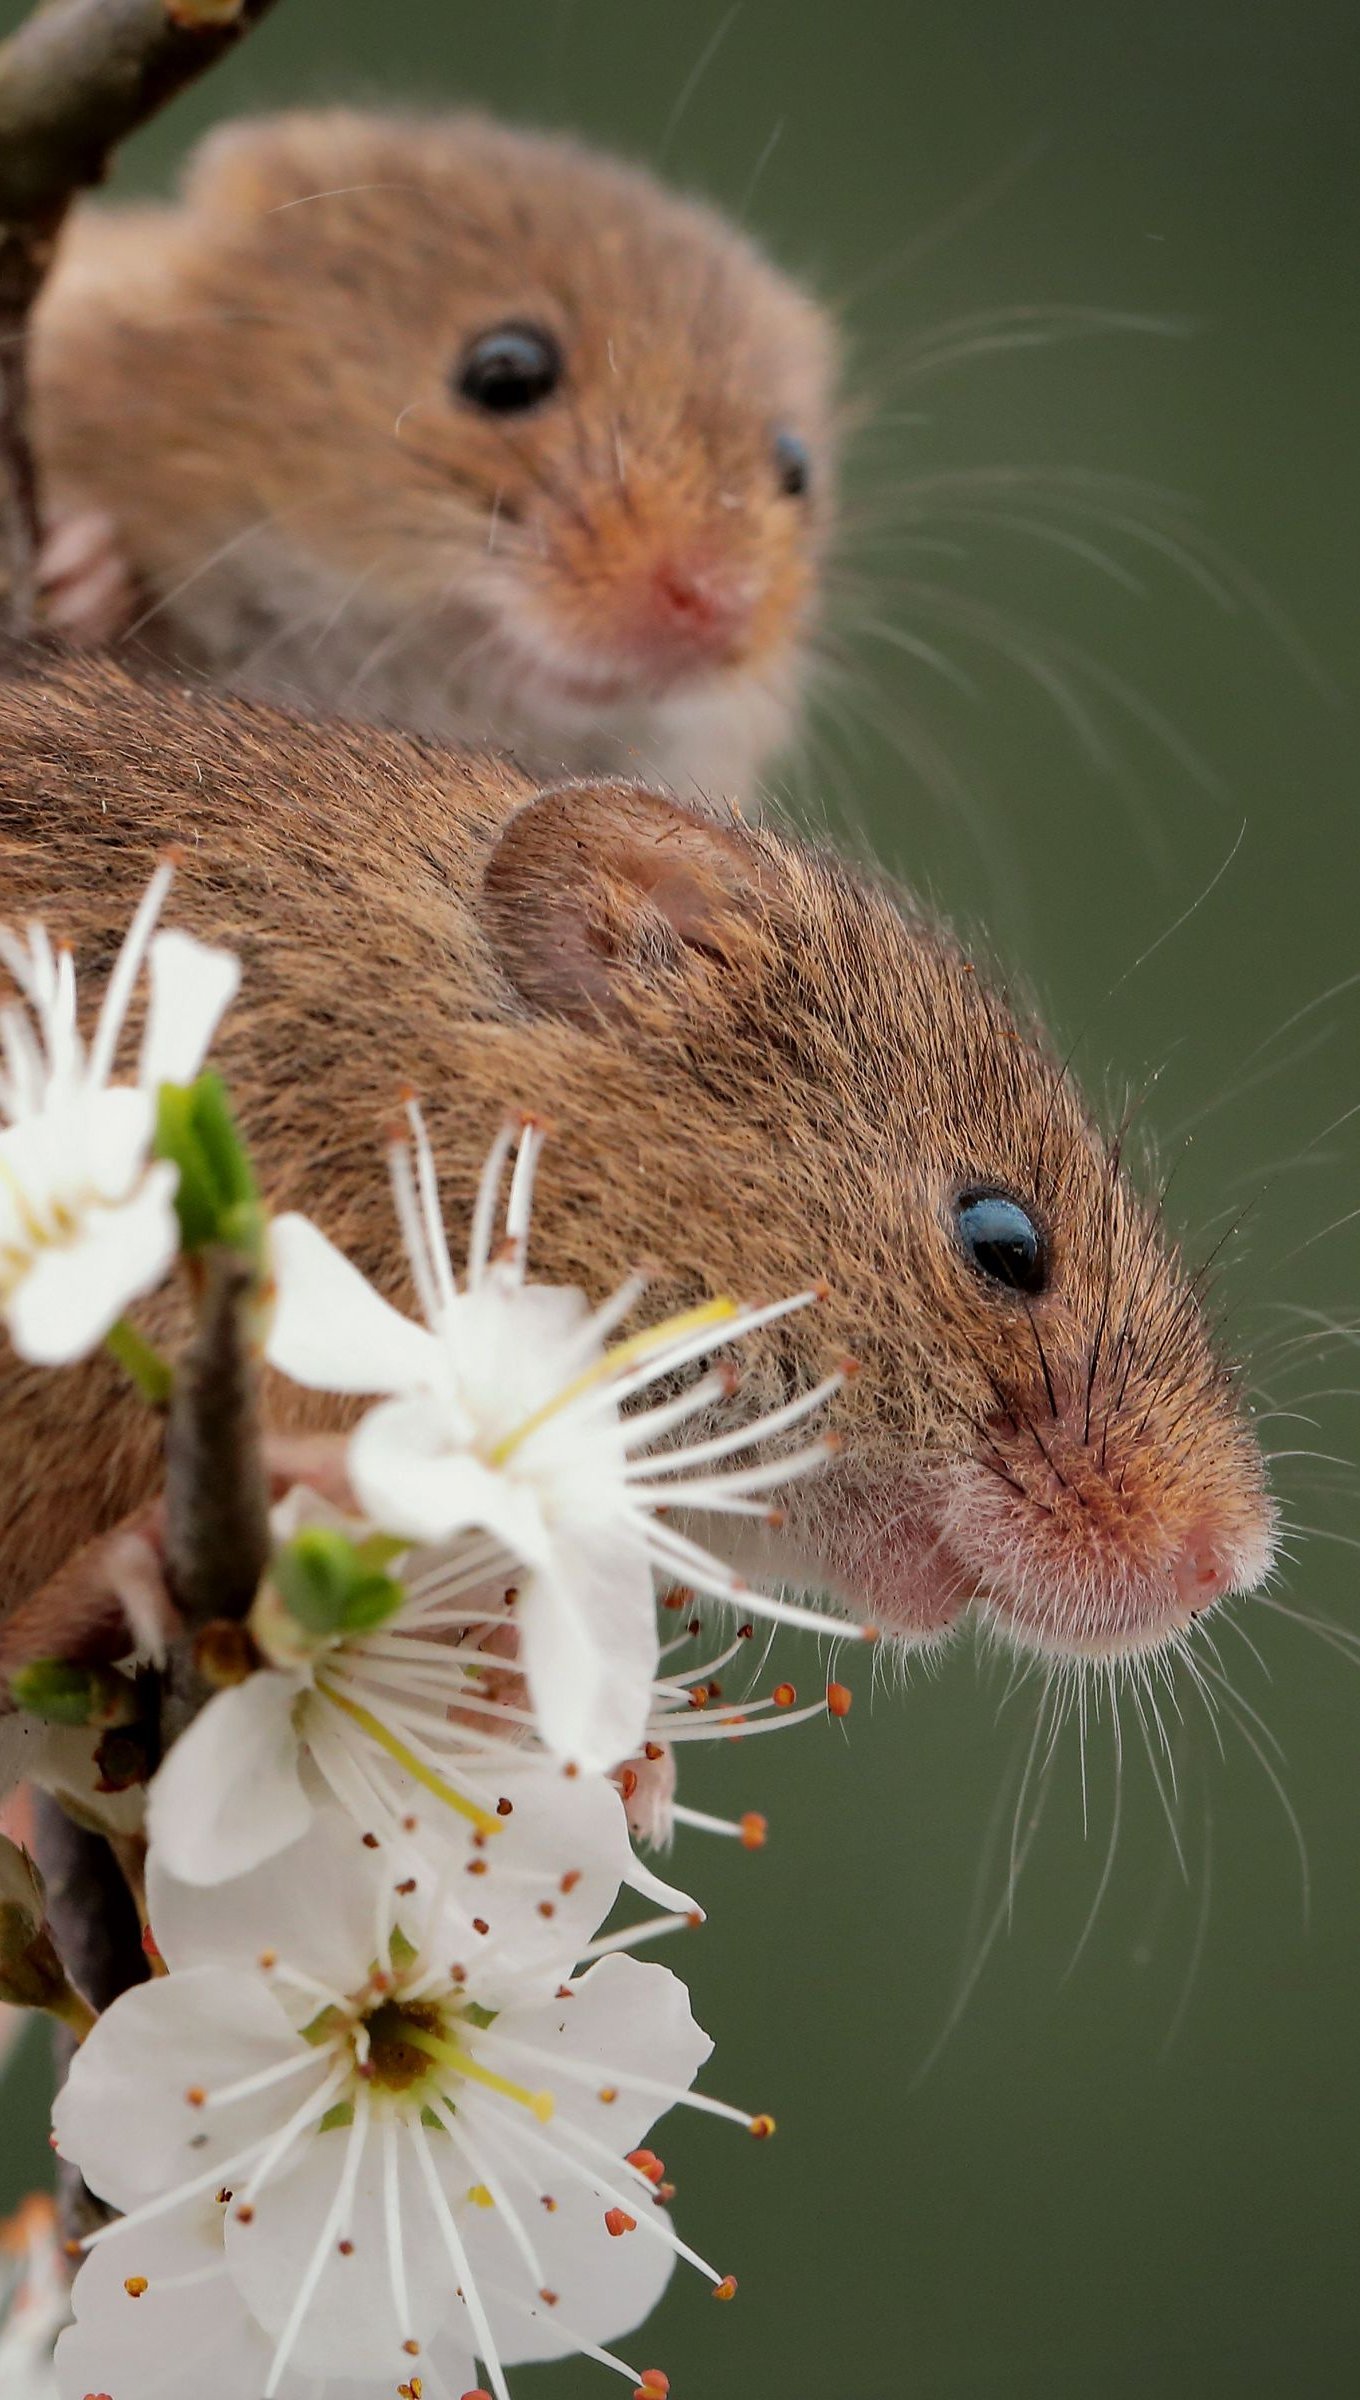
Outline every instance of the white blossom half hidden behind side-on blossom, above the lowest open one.
MULTIPOLYGON (((343 1529, 355 1543, 372 1526, 295 1486, 271 1517, 276 1538, 302 1526, 343 1529)), ((333 1800, 386 1841, 439 1841, 446 1810, 487 1834, 525 1805, 530 1788, 559 1788, 561 1762, 537 1738, 518 1651, 516 1586, 487 1582, 494 1546, 468 1534, 444 1550, 391 1562, 401 1606, 369 1632, 307 1642, 266 1584, 252 1630, 271 1666, 209 1699, 151 1783, 149 1831, 163 1867, 192 1884, 216 1884, 288 1848, 333 1800)), ((686 1603, 688 1606, 688 1603, 686 1603)), ((672 1752, 700 1740, 746 1740, 806 1718, 844 1714, 849 1694, 796 1706, 789 1682, 724 1697, 717 1678, 748 1656, 753 1622, 717 1656, 693 1656, 698 1620, 660 1656, 643 1735, 619 1769, 628 1819, 645 1841, 669 1841, 674 1822, 741 1834, 758 1846, 756 1814, 724 1824, 674 1802, 672 1752), (662 1769, 664 1762, 664 1769, 662 1769), (662 1771, 657 1771, 662 1769, 662 1771)), ((2 1721, 0 1721, 2 1738, 2 1721)), ((540 1802, 542 1805, 542 1802, 540 1802)), ((552 1802, 544 1812, 552 1841, 552 1802)), ((693 1901, 631 1853, 621 1879, 681 1915, 693 1901)))

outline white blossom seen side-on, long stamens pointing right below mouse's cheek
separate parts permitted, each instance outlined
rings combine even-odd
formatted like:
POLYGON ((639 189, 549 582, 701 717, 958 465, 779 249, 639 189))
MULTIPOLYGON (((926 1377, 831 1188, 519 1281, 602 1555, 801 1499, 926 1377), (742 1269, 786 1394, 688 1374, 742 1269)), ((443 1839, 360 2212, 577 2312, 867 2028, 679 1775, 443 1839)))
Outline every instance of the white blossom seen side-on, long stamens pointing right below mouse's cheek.
POLYGON ((727 1373, 715 1368, 636 1414, 624 1414, 626 1402, 816 1294, 753 1310, 717 1298, 612 1344, 640 1279, 595 1313, 580 1291, 525 1282, 542 1142, 532 1126, 520 1130, 494 1248, 513 1130, 492 1150, 458 1289, 429 1142, 420 1114, 410 1116, 413 1150, 393 1150, 393 1181, 425 1322, 391 1308, 309 1219, 290 1214, 271 1234, 278 1298, 269 1358, 305 1385, 389 1394, 350 1440, 360 1507, 420 1543, 470 1526, 487 1534, 520 1586, 518 1663, 542 1740, 585 1769, 612 1769, 645 1730, 657 1579, 684 1579, 748 1613, 825 1632, 823 1615, 741 1584, 679 1529, 674 1512, 768 1519, 770 1493, 820 1464, 832 1445, 818 1440, 765 1464, 744 1454, 787 1435, 842 1378, 734 1433, 657 1447, 729 1397, 727 1373))

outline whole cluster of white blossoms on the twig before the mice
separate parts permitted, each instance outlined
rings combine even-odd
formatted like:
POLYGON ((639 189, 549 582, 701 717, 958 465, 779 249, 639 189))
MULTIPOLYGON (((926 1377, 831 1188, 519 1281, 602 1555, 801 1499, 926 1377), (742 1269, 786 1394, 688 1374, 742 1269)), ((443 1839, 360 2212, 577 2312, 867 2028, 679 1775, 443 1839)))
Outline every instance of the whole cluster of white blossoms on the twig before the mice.
MULTIPOLYGON (((122 1658, 12 1678, 0 1783, 43 1781, 106 1824, 151 1968, 98 2018, 74 1994, 58 2011, 82 2040, 53 2143, 106 2222, 55 2311, 55 2364, 50 2258, 29 2263, 41 2364, 14 2390, 511 2400, 516 2364, 583 2354, 662 2400, 633 2335, 676 2261, 717 2299, 736 2280, 676 2230, 652 2126, 681 2102, 758 2138, 772 2122, 693 2090, 710 2040, 684 1982, 633 1951, 703 1910, 640 1843, 688 1822, 758 1848, 760 1817, 676 1798, 676 1759, 849 1706, 842 1685, 799 1709, 792 1685, 741 1675, 758 1625, 828 1618, 751 1589, 688 1529, 765 1517, 828 1454, 808 1428, 840 1373, 732 1414, 732 1346, 816 1294, 626 1332, 643 1279, 595 1308, 532 1282, 542 1135, 523 1121, 492 1147, 456 1274, 410 1102, 389 1152, 405 1315, 317 1224, 259 1202, 204 1070, 240 970, 158 931, 168 883, 89 1042, 70 953, 41 926, 0 934, 19 991, 0 1010, 10 1344, 53 1368, 108 1346, 166 1399, 142 1303, 175 1274, 197 1289, 194 1255, 235 1243, 261 1358, 345 1394, 353 1430, 276 1495, 254 1603, 194 1651, 211 1697, 163 1721, 146 1788, 108 1793, 101 1757, 175 1651, 168 1570, 161 1606, 146 1574, 127 1598, 122 1658), (681 1663, 710 1618, 715 1654, 681 1663)), ((60 1980, 17 1872, 10 1997, 22 1968, 60 1980)), ((34 2321, 12 2311, 0 2378, 34 2321)))

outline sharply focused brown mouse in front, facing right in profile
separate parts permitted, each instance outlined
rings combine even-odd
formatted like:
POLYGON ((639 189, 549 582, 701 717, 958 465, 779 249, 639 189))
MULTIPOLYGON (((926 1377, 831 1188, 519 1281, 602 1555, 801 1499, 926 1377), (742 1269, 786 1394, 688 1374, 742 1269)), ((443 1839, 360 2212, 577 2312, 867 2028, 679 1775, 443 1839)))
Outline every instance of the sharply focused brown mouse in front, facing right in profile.
MULTIPOLYGON (((166 842, 173 922, 245 960, 216 1056, 273 1205, 389 1286, 403 1080, 453 1229, 506 1106, 552 1121, 544 1279, 604 1294, 650 1260, 662 1313, 828 1277, 744 1354, 741 1406, 828 1351, 863 1368, 837 1464, 789 1500, 801 1574, 916 1639, 979 1603, 1019 1644, 1113 1656, 1266 1572, 1194 1284, 1043 1042, 904 895, 626 785, 535 797, 497 761, 101 665, 0 684, 0 914, 74 938, 91 1008, 166 842)), ((156 1438, 113 1366, 10 1354, 0 1459, 14 1601, 146 1495, 156 1438)))

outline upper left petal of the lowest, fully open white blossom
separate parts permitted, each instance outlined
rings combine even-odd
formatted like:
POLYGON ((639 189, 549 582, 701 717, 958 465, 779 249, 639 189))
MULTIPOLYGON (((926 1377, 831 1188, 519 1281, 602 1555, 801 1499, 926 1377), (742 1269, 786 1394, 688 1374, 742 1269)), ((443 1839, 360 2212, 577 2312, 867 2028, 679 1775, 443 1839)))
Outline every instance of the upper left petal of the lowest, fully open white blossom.
POLYGON ((300 1841, 230 1884, 177 1882, 154 1848, 146 1908, 173 1968, 254 1968, 261 1951, 276 1951, 300 1973, 357 1992, 374 1956, 377 1882, 389 1872, 348 1817, 317 1810, 300 1841))

